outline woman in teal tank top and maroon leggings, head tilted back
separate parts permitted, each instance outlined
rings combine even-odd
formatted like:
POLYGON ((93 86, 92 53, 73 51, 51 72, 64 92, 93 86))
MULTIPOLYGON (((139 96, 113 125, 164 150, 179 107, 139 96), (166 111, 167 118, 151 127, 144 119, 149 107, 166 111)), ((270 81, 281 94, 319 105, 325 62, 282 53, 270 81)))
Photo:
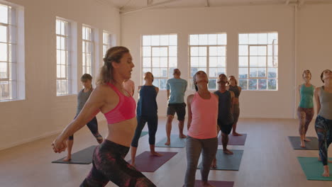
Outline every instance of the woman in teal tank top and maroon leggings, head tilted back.
POLYGON ((304 142, 310 142, 310 140, 306 138, 306 131, 314 117, 313 96, 315 86, 310 84, 311 72, 308 69, 304 70, 302 78, 304 79, 304 84, 299 85, 300 103, 299 108, 297 108, 297 116, 299 118, 300 146, 306 147, 304 142))

